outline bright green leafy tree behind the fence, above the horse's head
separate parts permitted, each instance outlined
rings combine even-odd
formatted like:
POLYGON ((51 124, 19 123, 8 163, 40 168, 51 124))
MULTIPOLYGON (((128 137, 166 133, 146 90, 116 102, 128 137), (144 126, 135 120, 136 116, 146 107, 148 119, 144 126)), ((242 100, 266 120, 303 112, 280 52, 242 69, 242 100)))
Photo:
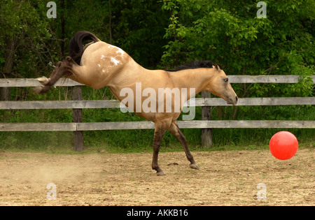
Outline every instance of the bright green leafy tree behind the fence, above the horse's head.
MULTIPOLYGON (((259 19, 256 1, 164 0, 170 13, 163 64, 176 66, 191 59, 211 59, 230 75, 299 74, 301 85, 286 91, 310 96, 314 74, 315 3, 308 0, 265 1, 267 18, 259 19), (304 89, 301 89, 304 87, 304 89)), ((272 85, 241 85, 242 96, 274 92, 272 85)), ((291 94, 292 95, 292 94, 291 94)))

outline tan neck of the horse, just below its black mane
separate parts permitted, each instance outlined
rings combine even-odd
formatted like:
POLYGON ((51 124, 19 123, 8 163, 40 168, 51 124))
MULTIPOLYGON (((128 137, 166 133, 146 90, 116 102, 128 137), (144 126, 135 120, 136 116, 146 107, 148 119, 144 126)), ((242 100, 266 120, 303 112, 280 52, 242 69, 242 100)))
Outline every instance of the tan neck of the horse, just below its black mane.
MULTIPOLYGON (((195 68, 183 71, 169 72, 174 87, 195 88, 195 94, 206 90, 209 81, 215 73, 215 68, 195 68)), ((191 97, 190 97, 191 98, 191 97)), ((189 98, 188 98, 189 99, 189 98)))

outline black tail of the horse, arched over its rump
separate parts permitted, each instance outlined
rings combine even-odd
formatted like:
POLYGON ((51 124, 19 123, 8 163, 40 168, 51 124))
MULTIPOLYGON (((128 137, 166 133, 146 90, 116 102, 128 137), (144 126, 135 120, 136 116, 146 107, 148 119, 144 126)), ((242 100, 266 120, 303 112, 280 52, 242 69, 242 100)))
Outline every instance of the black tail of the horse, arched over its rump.
POLYGON ((83 54, 83 42, 94 41, 97 42, 99 39, 94 34, 88 31, 78 31, 69 42, 69 55, 76 61, 76 64, 80 65, 81 57, 83 54))

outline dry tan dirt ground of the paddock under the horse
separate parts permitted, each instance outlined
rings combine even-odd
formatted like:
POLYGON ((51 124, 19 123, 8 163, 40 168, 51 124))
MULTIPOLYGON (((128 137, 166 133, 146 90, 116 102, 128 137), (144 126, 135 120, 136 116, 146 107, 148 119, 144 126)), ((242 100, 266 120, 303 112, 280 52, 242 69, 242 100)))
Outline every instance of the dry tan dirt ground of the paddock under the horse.
POLYGON ((192 153, 200 170, 183 152, 160 153, 158 177, 152 154, 2 152, 0 205, 315 205, 314 150, 287 161, 267 150, 192 153))

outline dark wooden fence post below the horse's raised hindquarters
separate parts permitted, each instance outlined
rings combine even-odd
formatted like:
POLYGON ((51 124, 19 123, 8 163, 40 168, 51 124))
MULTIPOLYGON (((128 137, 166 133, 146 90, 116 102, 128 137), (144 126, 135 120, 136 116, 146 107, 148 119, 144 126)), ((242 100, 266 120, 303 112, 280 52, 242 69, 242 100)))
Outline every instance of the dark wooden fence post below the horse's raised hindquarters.
MULTIPOLYGON (((81 86, 75 86, 72 88, 72 99, 80 101, 82 100, 81 86)), ((73 122, 74 123, 83 122, 82 108, 73 108, 73 122)), ((84 147, 83 131, 73 131, 73 147, 74 151, 76 152, 83 151, 84 147)))

